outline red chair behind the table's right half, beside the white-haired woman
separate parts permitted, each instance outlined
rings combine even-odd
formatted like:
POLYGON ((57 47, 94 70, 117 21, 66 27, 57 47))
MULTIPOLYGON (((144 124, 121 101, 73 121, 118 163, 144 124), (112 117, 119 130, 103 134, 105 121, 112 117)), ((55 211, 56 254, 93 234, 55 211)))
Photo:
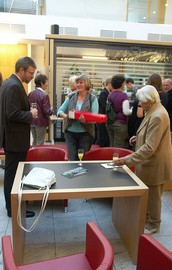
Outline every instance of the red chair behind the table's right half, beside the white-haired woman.
MULTIPOLYGON (((118 153, 119 157, 125 157, 133 153, 133 151, 118 147, 101 147, 92 151, 88 151, 84 155, 84 160, 112 160, 113 153, 118 153)), ((135 172, 135 167, 130 168, 135 172)))

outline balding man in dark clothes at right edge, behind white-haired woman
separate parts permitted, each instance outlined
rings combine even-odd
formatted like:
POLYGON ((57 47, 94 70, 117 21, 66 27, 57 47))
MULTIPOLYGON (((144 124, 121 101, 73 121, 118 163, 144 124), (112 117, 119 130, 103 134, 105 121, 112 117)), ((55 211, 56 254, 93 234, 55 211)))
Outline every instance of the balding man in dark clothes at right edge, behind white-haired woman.
POLYGON ((171 130, 171 137, 172 137, 172 80, 170 78, 163 80, 163 89, 167 93, 167 97, 168 97, 166 109, 170 117, 170 130, 171 130))

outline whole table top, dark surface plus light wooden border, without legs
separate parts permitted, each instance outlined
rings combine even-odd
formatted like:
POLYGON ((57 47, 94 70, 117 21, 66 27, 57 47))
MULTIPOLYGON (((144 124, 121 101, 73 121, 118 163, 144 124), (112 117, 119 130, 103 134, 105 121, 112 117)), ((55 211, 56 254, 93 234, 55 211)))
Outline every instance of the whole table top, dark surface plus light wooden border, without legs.
MULTIPOLYGON (((59 193, 61 197, 63 197, 62 194, 66 196, 66 194, 73 193, 75 196, 82 198, 84 195, 82 196, 80 193, 84 194, 86 192, 94 192, 96 197, 99 197, 100 193, 104 193, 103 196, 108 197, 111 193, 115 194, 115 191, 122 191, 124 194, 124 191, 135 190, 141 192, 147 189, 146 185, 127 166, 124 165, 123 168, 120 168, 120 171, 113 171, 113 169, 105 169, 101 165, 104 163, 109 163, 109 161, 83 161, 83 168, 88 171, 85 174, 69 179, 62 174, 77 168, 78 161, 19 162, 12 195, 18 194, 18 187, 22 177, 27 175, 34 167, 46 168, 55 172, 56 184, 52 186, 50 193, 59 193)), ((43 191, 27 187, 23 194, 41 192, 43 191)))

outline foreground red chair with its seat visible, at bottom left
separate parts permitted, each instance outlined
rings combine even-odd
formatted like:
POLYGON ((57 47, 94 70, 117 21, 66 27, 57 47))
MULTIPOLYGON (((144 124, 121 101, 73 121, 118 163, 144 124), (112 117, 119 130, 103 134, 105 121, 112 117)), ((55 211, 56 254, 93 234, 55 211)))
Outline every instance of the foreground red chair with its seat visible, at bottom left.
POLYGON ((2 237, 2 254, 5 270, 112 270, 113 248, 96 223, 86 225, 85 252, 17 266, 14 261, 10 236, 2 237))

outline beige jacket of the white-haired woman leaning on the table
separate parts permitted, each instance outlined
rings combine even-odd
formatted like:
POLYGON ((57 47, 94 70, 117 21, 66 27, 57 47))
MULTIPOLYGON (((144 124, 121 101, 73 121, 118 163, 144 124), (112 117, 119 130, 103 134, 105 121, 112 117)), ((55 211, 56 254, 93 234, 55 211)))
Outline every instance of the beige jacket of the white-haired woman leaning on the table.
POLYGON ((172 146, 169 116, 160 102, 146 113, 136 134, 136 151, 125 158, 136 166, 137 176, 146 185, 172 180, 172 146))

